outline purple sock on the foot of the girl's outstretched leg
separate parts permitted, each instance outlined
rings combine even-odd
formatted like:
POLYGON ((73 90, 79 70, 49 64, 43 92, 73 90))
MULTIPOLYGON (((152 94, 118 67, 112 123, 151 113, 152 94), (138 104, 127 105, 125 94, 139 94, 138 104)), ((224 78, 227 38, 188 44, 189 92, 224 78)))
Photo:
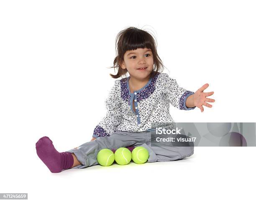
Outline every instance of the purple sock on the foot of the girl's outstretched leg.
POLYGON ((36 153, 51 172, 61 172, 71 168, 74 158, 69 152, 58 152, 49 137, 41 137, 36 142, 36 153))

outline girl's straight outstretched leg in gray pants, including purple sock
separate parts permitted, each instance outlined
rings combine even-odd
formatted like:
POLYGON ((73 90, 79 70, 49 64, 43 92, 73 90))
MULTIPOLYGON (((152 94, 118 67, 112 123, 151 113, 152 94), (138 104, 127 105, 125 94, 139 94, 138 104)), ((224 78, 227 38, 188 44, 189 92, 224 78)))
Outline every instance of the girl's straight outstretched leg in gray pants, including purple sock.
POLYGON ((109 137, 99 137, 96 140, 80 145, 76 149, 61 153, 54 148, 49 137, 45 136, 36 142, 36 152, 51 172, 61 172, 72 167, 85 168, 98 165, 97 153, 100 150, 108 148, 114 152, 119 147, 135 146, 136 144, 141 144, 141 142, 146 142, 143 135, 140 136, 136 137, 129 135, 129 133, 115 132, 109 137))

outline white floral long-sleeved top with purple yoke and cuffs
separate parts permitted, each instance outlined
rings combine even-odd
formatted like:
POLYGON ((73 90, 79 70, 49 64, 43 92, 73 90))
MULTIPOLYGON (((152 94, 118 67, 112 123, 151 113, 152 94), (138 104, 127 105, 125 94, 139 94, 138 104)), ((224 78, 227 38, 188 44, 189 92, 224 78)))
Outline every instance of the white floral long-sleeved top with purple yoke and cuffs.
POLYGON ((107 100, 107 115, 95 127, 92 137, 110 136, 115 131, 143 132, 150 131, 151 123, 172 123, 169 113, 170 103, 180 110, 192 110, 185 103, 189 90, 179 87, 175 79, 166 73, 157 73, 140 90, 131 93, 128 80, 130 77, 115 80, 107 100), (133 100, 136 111, 133 110, 133 100))

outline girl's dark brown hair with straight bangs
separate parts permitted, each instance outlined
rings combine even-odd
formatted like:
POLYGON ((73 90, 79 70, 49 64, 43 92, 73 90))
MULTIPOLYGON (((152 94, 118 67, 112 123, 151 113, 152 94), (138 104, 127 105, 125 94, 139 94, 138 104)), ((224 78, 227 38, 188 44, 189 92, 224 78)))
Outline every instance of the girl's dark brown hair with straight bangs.
POLYGON ((127 73, 127 69, 122 69, 121 64, 124 61, 123 57, 126 51, 136 50, 137 48, 151 49, 154 58, 154 67, 151 72, 151 77, 154 77, 157 72, 163 71, 163 63, 156 51, 156 41, 152 35, 144 30, 136 27, 128 27, 118 33, 115 38, 116 57, 114 59, 114 66, 110 68, 118 69, 116 75, 110 74, 112 78, 119 78, 127 73))

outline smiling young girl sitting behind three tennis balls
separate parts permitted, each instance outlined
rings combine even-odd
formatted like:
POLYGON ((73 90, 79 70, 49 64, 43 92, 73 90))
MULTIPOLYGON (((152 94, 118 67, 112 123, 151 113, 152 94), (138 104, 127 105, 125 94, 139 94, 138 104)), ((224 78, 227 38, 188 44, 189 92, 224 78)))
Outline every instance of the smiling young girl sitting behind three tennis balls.
POLYGON ((51 172, 69 168, 85 168, 99 164, 97 153, 108 148, 143 146, 149 152, 147 162, 173 161, 189 157, 194 153, 190 147, 151 147, 151 132, 156 127, 174 126, 169 114, 169 105, 180 110, 195 107, 203 112, 203 105, 212 107, 207 98, 213 92, 203 92, 205 84, 196 92, 179 87, 175 79, 162 72, 162 62, 156 51, 154 38, 146 31, 129 27, 116 38, 117 57, 113 68, 118 69, 113 78, 129 73, 129 77, 115 80, 105 101, 107 115, 95 127, 92 140, 67 152, 58 152, 49 137, 36 142, 38 157, 51 172))

